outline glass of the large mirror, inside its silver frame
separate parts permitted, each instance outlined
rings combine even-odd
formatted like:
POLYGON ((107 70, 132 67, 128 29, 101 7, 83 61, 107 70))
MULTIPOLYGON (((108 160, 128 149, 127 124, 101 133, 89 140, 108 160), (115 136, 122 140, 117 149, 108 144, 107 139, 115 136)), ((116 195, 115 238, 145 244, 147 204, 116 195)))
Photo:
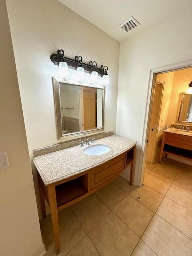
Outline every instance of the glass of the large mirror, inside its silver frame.
POLYGON ((103 89, 60 83, 62 134, 103 127, 103 89))

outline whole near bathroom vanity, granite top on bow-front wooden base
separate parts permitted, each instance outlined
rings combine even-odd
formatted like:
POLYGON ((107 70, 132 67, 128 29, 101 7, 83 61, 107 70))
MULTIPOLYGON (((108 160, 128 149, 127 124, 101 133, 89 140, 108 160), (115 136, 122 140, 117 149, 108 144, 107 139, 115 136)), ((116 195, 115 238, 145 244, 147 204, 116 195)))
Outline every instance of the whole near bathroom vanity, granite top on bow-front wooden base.
POLYGON ((132 185, 136 143, 113 135, 90 145, 78 145, 33 158, 38 170, 43 217, 46 216, 45 200, 50 207, 56 254, 60 253, 58 211, 106 186, 128 166, 132 185), (100 146, 92 150, 93 145, 100 146), (103 150, 106 150, 105 154, 103 150))

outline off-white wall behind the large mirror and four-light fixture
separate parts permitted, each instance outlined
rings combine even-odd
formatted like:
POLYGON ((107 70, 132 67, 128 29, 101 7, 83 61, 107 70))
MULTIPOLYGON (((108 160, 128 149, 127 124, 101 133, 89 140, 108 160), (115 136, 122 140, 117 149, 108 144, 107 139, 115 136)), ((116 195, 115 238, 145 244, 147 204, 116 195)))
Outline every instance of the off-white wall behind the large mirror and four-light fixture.
MULTIPOLYGON (((105 130, 115 131, 119 42, 56 0, 7 0, 7 5, 30 157, 32 149, 58 142, 52 88, 58 66, 50 55, 60 48, 69 58, 77 54, 86 63, 108 65, 105 130)), ((34 166, 33 173, 38 192, 34 166)))

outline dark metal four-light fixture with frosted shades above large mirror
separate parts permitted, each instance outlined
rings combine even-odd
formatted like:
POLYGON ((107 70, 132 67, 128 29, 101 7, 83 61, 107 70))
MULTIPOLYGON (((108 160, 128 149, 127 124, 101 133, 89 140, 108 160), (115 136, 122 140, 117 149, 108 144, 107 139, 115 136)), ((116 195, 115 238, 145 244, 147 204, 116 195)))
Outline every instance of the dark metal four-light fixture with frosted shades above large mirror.
POLYGON ((96 62, 92 62, 90 61, 89 64, 83 63, 82 62, 82 56, 75 56, 74 59, 70 59, 64 56, 64 50, 57 50, 57 54, 52 54, 50 56, 51 61, 54 63, 54 65, 58 65, 60 66, 59 68, 62 70, 61 71, 62 74, 61 75, 59 72, 59 76, 66 76, 69 73, 68 70, 68 66, 70 67, 74 67, 76 68, 76 74, 74 76, 74 78, 76 80, 80 80, 80 81, 84 81, 86 80, 86 76, 85 76, 85 70, 88 71, 91 74, 91 82, 92 83, 96 83, 95 81, 97 80, 97 82, 99 82, 99 80, 101 81, 102 84, 109 84, 109 76, 107 74, 108 71, 108 67, 107 66, 101 66, 101 68, 97 68, 96 62), (60 62, 64 62, 66 64, 60 64, 60 62), (94 69, 94 70, 93 70, 94 69), (99 79, 98 76, 101 76, 102 79, 99 79))

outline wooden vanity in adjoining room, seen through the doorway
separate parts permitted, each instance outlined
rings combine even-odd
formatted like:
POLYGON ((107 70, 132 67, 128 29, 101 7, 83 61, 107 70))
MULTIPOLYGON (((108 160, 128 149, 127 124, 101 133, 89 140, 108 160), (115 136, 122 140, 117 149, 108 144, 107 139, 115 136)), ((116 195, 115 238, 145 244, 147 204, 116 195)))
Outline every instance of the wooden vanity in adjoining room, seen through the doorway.
POLYGON ((168 154, 192 161, 192 132, 168 128, 164 131, 160 152, 162 156, 168 154))

